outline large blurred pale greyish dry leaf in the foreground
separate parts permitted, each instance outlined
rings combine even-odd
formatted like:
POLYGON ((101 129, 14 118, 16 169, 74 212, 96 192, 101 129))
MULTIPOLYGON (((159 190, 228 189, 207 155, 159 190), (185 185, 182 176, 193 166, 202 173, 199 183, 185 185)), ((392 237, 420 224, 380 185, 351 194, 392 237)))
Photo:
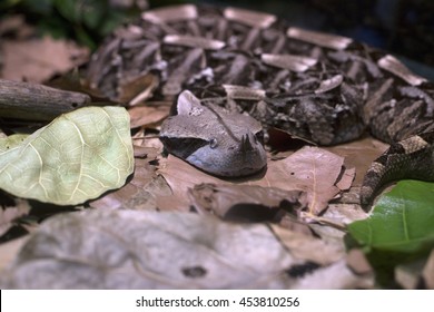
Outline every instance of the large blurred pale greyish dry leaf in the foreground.
POLYGON ((45 222, 4 271, 0 287, 288 289, 305 277, 303 271, 317 267, 302 259, 305 252, 293 255, 263 224, 83 211, 45 222))

